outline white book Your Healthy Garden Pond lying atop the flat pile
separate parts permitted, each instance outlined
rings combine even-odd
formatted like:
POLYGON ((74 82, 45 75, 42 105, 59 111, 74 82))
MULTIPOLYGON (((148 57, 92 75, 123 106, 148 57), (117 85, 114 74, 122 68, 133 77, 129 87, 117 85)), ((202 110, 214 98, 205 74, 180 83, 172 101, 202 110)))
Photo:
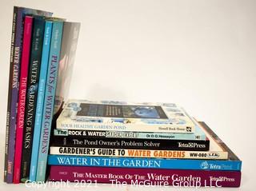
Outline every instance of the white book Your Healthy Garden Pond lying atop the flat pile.
POLYGON ((194 126, 173 103, 70 100, 57 120, 57 129, 194 133, 194 126))

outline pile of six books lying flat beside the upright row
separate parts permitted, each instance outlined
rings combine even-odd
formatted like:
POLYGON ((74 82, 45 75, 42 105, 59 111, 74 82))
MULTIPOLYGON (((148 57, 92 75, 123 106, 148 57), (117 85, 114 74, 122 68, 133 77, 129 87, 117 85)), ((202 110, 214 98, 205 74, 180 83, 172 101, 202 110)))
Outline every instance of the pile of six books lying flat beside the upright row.
POLYGON ((70 100, 48 164, 51 181, 238 187, 242 162, 176 104, 70 100))

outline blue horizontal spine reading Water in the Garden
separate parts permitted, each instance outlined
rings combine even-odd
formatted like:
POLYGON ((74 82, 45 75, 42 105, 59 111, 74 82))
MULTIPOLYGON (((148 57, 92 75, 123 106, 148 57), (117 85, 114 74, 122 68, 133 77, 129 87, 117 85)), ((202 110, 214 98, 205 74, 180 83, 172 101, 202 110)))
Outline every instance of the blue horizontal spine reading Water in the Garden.
POLYGON ((48 165, 98 166, 148 169, 205 169, 240 171, 242 161, 235 160, 185 160, 165 158, 130 157, 79 157, 49 155, 48 165))

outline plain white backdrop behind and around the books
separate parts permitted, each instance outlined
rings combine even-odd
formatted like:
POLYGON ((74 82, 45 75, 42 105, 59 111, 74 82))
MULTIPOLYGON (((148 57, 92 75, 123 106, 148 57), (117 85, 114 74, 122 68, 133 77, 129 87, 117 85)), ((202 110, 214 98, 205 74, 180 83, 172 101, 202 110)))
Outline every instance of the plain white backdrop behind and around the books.
MULTIPOLYGON (((82 23, 71 98, 177 102, 242 158, 239 190, 253 190, 255 1, 1 0, 0 5, 2 156, 12 11, 14 5, 27 6, 82 23)), ((0 190, 7 188, 0 182, 0 190)))

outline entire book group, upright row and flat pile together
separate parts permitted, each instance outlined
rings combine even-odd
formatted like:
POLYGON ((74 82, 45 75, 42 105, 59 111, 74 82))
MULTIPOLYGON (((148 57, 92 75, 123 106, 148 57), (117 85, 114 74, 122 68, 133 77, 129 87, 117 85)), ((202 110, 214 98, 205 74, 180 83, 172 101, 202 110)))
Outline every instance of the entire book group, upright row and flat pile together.
POLYGON ((174 103, 68 100, 80 24, 51 15, 14 7, 4 181, 240 185, 242 161, 174 103))

